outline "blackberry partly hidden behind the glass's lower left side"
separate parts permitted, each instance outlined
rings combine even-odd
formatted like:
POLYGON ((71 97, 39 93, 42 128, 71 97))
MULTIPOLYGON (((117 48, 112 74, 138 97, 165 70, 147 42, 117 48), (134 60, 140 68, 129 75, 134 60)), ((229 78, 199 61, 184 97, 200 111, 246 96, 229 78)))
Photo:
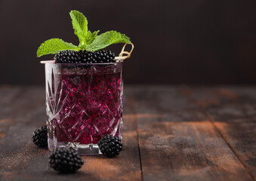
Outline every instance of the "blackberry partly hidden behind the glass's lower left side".
POLYGON ((36 129, 32 135, 32 141, 37 146, 47 147, 48 146, 47 126, 42 126, 40 129, 36 129))

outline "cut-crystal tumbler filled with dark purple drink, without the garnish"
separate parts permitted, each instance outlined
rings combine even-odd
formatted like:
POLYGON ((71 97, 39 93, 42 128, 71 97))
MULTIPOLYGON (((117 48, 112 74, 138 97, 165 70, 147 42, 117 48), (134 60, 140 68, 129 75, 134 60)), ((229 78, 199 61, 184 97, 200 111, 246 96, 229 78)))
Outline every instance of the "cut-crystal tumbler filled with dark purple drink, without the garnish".
POLYGON ((106 134, 122 138, 122 63, 47 63, 45 68, 49 149, 94 154, 106 134))

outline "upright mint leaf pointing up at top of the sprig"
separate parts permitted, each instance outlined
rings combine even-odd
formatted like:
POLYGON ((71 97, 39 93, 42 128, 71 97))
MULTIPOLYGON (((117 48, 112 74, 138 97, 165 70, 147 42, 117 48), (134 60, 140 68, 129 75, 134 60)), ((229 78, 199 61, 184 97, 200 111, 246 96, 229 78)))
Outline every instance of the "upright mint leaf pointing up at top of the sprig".
POLYGON ((86 44, 86 36, 88 33, 88 21, 86 17, 79 11, 70 11, 69 14, 72 19, 73 29, 75 29, 75 34, 78 36, 80 44, 86 44))

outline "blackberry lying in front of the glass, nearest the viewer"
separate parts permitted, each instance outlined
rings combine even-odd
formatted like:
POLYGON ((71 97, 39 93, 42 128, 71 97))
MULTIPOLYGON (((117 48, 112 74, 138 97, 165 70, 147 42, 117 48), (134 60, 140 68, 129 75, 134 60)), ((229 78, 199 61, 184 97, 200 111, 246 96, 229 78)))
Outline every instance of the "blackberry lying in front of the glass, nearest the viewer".
POLYGON ((82 161, 79 153, 69 149, 56 149, 49 159, 50 167, 61 173, 75 173, 82 167, 82 164, 84 161, 82 161))

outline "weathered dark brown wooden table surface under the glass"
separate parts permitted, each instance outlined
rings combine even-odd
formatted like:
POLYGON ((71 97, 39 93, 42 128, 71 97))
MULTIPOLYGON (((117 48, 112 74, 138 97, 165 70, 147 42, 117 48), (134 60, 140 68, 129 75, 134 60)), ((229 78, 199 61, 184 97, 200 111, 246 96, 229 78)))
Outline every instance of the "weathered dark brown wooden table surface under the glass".
POLYGON ((75 174, 48 167, 32 143, 45 87, 0 87, 0 180, 255 180, 256 87, 125 86, 116 158, 82 156, 75 174))

